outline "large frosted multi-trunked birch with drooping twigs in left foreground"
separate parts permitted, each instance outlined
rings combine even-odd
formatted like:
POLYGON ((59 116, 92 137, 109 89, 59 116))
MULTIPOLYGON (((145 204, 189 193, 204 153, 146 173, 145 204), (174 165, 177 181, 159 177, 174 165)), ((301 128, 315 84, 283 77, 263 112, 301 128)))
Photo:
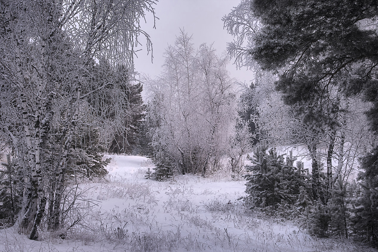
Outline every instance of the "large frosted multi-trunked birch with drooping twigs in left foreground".
POLYGON ((132 78, 138 36, 147 37, 147 48, 151 46, 139 19, 147 11, 153 13, 153 4, 0 2, 1 141, 25 175, 15 226, 30 239, 37 239, 37 227, 45 217, 49 229, 62 228, 61 200, 74 132, 85 125, 110 123, 105 114, 112 104, 105 104, 105 97, 112 97, 113 104, 123 102, 111 78, 91 78, 96 62, 123 64, 132 78))

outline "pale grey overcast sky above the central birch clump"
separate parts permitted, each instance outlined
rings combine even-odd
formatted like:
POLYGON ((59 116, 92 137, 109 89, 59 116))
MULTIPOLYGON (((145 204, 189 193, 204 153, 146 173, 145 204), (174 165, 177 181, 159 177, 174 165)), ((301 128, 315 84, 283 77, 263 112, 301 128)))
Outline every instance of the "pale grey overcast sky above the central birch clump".
MULTIPOLYGON (((159 0, 155 7, 156 29, 153 29, 153 18, 147 14, 147 24, 142 24, 153 43, 153 63, 147 55, 146 47, 138 52, 135 58, 135 68, 139 73, 155 77, 161 72, 164 63, 163 53, 168 45, 173 45, 180 28, 192 35, 192 42, 198 47, 201 43, 211 44, 218 54, 226 51, 227 43, 233 36, 223 29, 222 17, 228 14, 240 0, 159 0)), ((142 48, 139 48, 142 49, 142 48)), ((253 72, 247 69, 237 70, 231 60, 228 71, 232 78, 250 83, 253 72)))

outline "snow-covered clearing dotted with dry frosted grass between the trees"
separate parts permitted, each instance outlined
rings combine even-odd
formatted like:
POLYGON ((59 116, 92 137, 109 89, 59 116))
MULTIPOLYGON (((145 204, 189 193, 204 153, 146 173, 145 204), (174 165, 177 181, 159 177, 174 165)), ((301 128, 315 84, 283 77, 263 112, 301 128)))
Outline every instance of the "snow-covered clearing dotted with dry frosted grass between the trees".
POLYGON ((227 176, 180 175, 146 180, 145 157, 111 155, 108 181, 81 183, 93 200, 82 204, 82 224, 57 238, 40 230, 28 240, 12 228, 0 230, 6 252, 368 252, 350 241, 311 238, 291 223, 259 219, 242 207, 245 181, 227 176))

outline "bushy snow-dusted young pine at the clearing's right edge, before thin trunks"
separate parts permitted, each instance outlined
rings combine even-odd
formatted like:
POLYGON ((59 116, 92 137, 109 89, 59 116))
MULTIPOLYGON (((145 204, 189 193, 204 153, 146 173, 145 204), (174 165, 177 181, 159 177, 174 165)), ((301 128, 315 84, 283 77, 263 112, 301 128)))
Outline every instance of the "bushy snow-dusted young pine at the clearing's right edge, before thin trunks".
POLYGON ((308 175, 301 163, 301 169, 294 167, 296 158, 291 153, 284 162, 274 148, 267 150, 265 142, 257 144, 250 159, 253 165, 246 166, 246 202, 252 208, 287 217, 293 214, 300 188, 308 187, 308 175))

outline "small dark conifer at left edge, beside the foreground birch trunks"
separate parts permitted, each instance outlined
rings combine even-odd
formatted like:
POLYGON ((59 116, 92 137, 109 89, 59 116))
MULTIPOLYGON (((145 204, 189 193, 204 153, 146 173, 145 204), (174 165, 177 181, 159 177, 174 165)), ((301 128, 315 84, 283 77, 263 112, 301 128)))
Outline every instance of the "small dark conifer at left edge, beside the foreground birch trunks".
POLYGON ((13 224, 21 207, 19 170, 11 155, 6 163, 0 163, 0 228, 13 224))

